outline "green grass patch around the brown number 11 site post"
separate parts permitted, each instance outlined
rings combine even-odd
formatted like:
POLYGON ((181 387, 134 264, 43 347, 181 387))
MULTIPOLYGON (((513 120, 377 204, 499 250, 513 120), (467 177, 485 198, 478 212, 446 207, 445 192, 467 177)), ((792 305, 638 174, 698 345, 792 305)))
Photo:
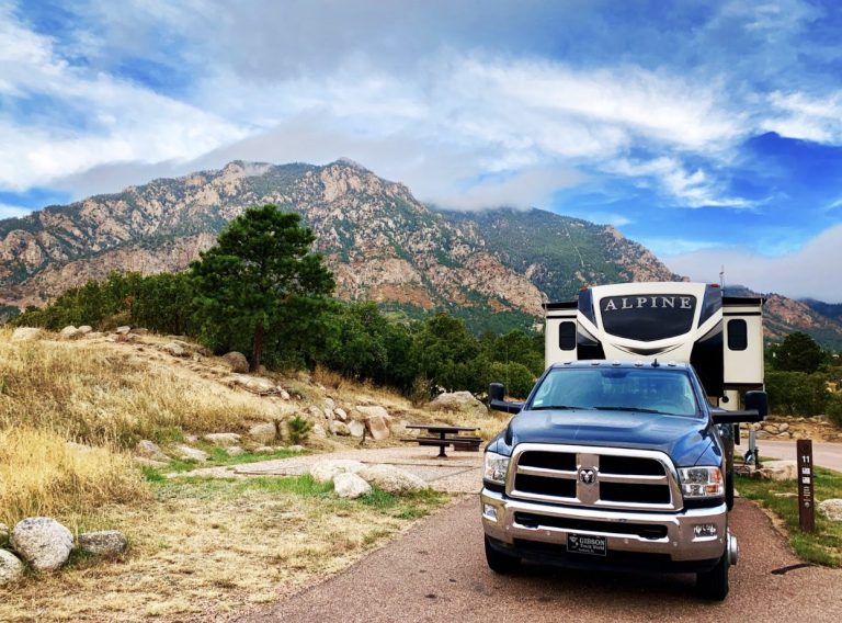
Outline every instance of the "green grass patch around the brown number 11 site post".
MULTIPOLYGON (((826 519, 816 511, 816 532, 801 532, 798 521, 798 498, 792 494, 798 492, 795 480, 758 480, 746 476, 737 476, 737 490, 744 498, 760 502, 780 517, 789 534, 789 544, 805 560, 842 567, 842 522, 826 519)), ((842 498, 842 474, 816 468, 815 473, 816 503, 842 498)))

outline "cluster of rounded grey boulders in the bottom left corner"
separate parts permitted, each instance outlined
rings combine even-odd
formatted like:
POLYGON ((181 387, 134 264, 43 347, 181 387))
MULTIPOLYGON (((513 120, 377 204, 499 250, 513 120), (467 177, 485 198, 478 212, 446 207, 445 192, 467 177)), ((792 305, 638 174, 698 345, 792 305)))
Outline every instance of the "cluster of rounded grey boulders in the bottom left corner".
MULTIPOLYGON (((0 524, 0 546, 3 546, 9 529, 4 524, 0 524)), ((49 517, 21 520, 8 541, 11 551, 0 548, 0 586, 19 579, 24 563, 36 571, 55 571, 67 563, 75 547, 96 556, 117 556, 128 546, 126 536, 116 530, 86 532, 75 543, 70 530, 49 517)))

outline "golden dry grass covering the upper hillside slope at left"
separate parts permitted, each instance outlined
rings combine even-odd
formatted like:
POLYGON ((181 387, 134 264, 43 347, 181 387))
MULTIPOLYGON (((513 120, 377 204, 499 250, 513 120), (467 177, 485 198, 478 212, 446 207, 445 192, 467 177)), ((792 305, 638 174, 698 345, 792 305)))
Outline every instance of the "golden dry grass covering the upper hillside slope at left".
POLYGON ((271 418, 258 397, 190 370, 156 365, 144 347, 10 342, 9 335, 0 332, 0 430, 26 424, 69 440, 130 446, 139 439, 240 430, 249 420, 271 418))

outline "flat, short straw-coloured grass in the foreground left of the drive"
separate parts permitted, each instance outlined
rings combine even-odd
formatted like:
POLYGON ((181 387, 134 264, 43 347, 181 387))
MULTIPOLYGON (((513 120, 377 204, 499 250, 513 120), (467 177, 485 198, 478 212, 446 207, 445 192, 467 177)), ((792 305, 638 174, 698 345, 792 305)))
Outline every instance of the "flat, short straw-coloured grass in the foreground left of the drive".
POLYGON ((16 587, 0 621, 170 619, 275 601, 406 529, 400 508, 253 482, 168 484, 143 508, 104 509, 133 535, 128 555, 16 587))

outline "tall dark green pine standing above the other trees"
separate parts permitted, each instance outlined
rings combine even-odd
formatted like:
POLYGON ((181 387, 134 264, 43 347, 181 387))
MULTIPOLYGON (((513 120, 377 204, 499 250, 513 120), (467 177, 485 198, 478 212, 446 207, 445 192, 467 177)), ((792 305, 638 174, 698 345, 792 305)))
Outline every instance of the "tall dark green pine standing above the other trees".
POLYGON ((300 330, 286 312, 333 292, 330 271, 310 251, 316 236, 299 220, 274 205, 250 207, 191 264, 203 335, 215 346, 248 339, 252 371, 260 365, 266 331, 278 318, 286 331, 300 330))

